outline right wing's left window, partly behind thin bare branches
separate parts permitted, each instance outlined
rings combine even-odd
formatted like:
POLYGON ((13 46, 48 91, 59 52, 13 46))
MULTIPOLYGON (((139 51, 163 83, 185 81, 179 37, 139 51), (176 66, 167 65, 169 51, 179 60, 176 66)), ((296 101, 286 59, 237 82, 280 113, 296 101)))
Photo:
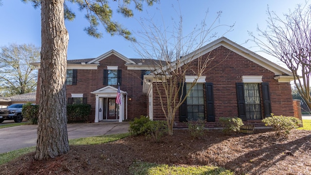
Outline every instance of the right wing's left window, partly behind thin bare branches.
MULTIPOLYGON (((191 83, 186 84, 187 91, 191 83)), ((191 88, 187 96, 187 118, 188 121, 204 120, 204 89, 203 84, 198 83, 191 88)))

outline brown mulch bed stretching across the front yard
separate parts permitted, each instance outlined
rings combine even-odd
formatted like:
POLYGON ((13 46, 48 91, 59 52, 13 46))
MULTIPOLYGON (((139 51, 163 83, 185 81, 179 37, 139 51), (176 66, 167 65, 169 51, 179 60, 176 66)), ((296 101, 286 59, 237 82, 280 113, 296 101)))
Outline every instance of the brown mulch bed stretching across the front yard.
POLYGON ((145 136, 101 145, 70 146, 66 155, 46 161, 34 153, 0 166, 0 175, 128 175, 134 161, 191 166, 215 165, 239 174, 310 175, 311 131, 293 130, 276 137, 271 130, 225 135, 205 131, 199 139, 188 130, 174 130, 155 143, 145 136))

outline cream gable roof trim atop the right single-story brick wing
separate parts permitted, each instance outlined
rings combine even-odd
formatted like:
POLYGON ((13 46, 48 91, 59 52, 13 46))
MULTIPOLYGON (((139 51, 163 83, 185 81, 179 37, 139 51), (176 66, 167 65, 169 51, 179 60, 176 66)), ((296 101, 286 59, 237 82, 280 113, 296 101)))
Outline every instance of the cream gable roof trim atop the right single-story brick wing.
MULTIPOLYGON (((224 46, 225 48, 231 50, 234 53, 238 53, 241 56, 249 59, 250 61, 253 61, 254 63, 262 66, 263 68, 266 68, 267 70, 270 70, 274 72, 276 75, 289 75, 293 76, 293 73, 289 70, 286 70, 277 64, 267 60, 266 58, 238 45, 237 43, 225 38, 221 37, 219 39, 216 39, 215 41, 212 41, 211 43, 203 46, 202 48, 189 53, 188 55, 184 56, 179 60, 179 62, 187 64, 191 62, 192 60, 197 59, 198 57, 211 52, 212 50, 224 46)), ((172 66, 176 65, 176 62, 172 62, 172 66)), ((183 65, 183 64, 182 64, 183 65)), ((180 66, 182 66, 180 65, 180 66)), ((165 70, 165 69, 164 69, 165 70)))

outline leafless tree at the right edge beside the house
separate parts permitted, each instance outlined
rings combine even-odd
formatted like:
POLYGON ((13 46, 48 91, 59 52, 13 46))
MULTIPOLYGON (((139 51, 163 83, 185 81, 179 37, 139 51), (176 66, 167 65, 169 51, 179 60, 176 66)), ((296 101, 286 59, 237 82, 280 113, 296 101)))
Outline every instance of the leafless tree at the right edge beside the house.
POLYGON ((267 14, 267 29, 258 27, 258 36, 249 34, 262 52, 278 58, 293 73, 299 94, 311 108, 311 5, 297 5, 284 19, 269 7, 267 14))

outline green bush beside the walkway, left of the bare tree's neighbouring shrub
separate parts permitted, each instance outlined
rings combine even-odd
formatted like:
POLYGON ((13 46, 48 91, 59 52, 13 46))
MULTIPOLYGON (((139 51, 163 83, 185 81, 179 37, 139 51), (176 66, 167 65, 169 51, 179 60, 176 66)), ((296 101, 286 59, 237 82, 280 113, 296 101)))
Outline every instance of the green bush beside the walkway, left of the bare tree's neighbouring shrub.
POLYGON ((140 134, 146 134, 143 129, 144 124, 150 121, 149 117, 140 116, 140 118, 135 118, 133 122, 130 122, 129 132, 131 135, 138 136, 140 134))

